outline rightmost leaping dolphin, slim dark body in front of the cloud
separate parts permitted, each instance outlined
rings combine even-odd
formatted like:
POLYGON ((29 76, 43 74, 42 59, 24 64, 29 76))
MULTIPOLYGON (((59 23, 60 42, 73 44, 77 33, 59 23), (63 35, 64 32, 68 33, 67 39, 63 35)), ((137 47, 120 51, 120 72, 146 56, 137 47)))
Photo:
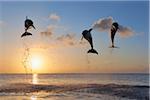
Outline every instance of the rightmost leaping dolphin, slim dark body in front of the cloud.
POLYGON ((111 48, 115 48, 114 37, 115 37, 115 34, 116 34, 118 28, 119 28, 119 25, 117 22, 114 22, 111 26, 111 42, 112 42, 111 48))

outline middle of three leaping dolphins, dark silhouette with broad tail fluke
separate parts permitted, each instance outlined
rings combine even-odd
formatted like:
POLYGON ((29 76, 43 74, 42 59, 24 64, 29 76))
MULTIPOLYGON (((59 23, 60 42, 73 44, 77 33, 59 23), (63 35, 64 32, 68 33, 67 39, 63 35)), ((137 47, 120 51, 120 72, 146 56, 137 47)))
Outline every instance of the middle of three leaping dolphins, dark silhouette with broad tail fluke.
POLYGON ((90 49, 89 51, 87 51, 87 53, 96 53, 96 54, 98 54, 98 52, 93 49, 93 40, 92 40, 92 35, 91 35, 91 31, 92 31, 92 30, 93 30, 92 28, 89 29, 89 30, 84 30, 84 31, 82 32, 82 35, 83 35, 83 36, 82 36, 81 40, 82 40, 83 38, 85 38, 85 39, 90 43, 90 45, 91 45, 91 49, 90 49))

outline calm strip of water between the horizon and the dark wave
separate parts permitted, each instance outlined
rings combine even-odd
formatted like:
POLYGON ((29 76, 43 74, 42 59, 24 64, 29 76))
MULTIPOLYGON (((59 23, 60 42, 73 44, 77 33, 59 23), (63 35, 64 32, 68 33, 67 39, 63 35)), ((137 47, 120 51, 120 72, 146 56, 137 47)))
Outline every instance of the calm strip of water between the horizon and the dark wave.
POLYGON ((149 74, 0 74, 0 85, 33 84, 126 84, 149 85, 149 74))

